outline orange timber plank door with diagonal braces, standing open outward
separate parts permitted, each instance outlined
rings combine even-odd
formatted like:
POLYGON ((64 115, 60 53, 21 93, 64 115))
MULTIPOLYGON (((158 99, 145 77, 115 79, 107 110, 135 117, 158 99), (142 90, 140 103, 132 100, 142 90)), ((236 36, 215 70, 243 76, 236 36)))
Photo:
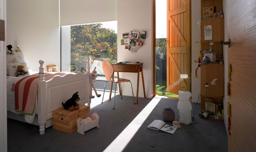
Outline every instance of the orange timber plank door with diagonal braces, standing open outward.
POLYGON ((167 91, 190 91, 190 0, 167 0, 167 91))

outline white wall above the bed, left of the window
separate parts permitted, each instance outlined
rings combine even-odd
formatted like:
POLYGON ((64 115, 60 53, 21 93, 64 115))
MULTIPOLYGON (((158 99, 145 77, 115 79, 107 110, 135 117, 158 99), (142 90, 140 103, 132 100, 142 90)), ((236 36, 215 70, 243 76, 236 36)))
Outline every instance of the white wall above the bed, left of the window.
POLYGON ((60 68, 59 0, 8 0, 7 45, 20 49, 28 67, 38 71, 40 59, 60 68))

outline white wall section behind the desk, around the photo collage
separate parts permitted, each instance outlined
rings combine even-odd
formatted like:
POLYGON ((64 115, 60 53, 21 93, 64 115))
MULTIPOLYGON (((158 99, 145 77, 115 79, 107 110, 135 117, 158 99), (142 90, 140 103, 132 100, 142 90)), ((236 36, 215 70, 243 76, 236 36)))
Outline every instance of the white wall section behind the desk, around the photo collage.
MULTIPOLYGON (((146 97, 151 98, 152 89, 152 51, 151 51, 151 1, 150 0, 118 0, 117 1, 117 61, 132 61, 143 62, 143 75, 145 83, 146 97), (126 9, 127 8, 127 9, 126 9), (130 11, 129 11, 130 10, 130 11), (127 18, 127 12, 130 13, 127 18), (122 39, 122 33, 129 33, 130 30, 147 31, 146 40, 143 42, 143 46, 131 53, 127 49, 124 49, 124 45, 121 45, 120 39, 122 39)), ((120 72, 119 76, 122 78, 130 79, 133 86, 134 96, 136 96, 137 89, 137 73, 123 73, 120 72)), ((131 84, 122 83, 123 95, 132 96, 131 84)), ((139 83, 139 97, 143 96, 142 81, 140 75, 139 83)))

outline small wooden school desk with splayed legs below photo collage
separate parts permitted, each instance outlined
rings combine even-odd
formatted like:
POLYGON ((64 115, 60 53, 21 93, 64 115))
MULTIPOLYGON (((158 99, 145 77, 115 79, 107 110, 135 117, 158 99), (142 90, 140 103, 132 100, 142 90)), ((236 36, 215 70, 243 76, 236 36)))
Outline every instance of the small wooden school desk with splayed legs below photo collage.
MULTIPOLYGON (((138 104, 139 80, 140 80, 140 72, 141 72, 142 85, 143 85, 143 93, 144 93, 144 98, 146 98, 144 78, 143 78, 143 71, 142 71, 143 63, 138 63, 138 64, 112 64, 112 65, 114 67, 114 72, 117 72, 117 77, 118 78, 119 78, 119 72, 138 73, 136 104, 138 104)), ((112 85, 113 85, 113 83, 111 82, 110 90, 112 90, 112 85)), ((120 83, 118 83, 118 87, 119 87, 119 94, 121 94, 120 83)), ((109 100, 110 99, 111 99, 111 93, 109 94, 109 100)))

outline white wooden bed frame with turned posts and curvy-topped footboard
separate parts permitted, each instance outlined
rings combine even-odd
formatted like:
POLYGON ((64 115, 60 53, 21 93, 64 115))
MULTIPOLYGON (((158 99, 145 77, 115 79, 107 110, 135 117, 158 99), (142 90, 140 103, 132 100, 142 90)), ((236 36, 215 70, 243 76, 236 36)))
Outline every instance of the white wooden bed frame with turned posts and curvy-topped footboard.
MULTIPOLYGON (((90 78, 81 72, 76 74, 66 74, 64 76, 53 76, 50 80, 44 80, 44 60, 39 60, 39 81, 38 100, 36 116, 32 124, 39 126, 40 134, 44 134, 45 128, 52 126, 52 111, 61 108, 61 102, 67 101, 75 92, 79 92, 79 104, 90 106, 90 78)), ((90 66, 87 63, 87 71, 90 66)), ((7 117, 19 121, 24 121, 24 116, 16 115, 10 111, 7 117)))

